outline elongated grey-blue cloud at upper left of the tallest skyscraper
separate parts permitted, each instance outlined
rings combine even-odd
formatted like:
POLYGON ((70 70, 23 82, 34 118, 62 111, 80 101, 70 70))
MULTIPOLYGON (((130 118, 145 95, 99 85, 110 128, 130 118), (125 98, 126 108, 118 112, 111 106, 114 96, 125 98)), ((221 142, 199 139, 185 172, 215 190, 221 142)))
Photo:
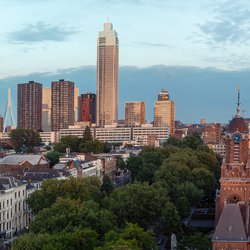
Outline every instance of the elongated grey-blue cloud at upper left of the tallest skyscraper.
POLYGON ((28 24, 25 28, 8 34, 8 41, 11 43, 36 43, 43 41, 61 42, 77 31, 51 26, 44 22, 28 24))

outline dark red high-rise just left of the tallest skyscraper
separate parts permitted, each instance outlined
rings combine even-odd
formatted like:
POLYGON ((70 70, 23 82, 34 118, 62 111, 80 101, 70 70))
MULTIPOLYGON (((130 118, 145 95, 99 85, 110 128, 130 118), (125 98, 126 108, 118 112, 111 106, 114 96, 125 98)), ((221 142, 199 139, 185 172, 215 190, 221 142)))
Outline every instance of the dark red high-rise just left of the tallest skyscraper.
POLYGON ((96 123, 96 94, 86 93, 81 95, 79 120, 96 123))

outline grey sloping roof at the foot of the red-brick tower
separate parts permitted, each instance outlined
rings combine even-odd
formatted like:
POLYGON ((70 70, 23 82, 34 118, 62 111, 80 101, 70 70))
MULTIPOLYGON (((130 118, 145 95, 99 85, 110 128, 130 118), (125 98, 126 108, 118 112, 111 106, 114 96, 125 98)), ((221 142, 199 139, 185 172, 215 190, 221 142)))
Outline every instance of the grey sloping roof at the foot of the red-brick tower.
POLYGON ((224 205, 212 241, 248 241, 239 203, 224 205))

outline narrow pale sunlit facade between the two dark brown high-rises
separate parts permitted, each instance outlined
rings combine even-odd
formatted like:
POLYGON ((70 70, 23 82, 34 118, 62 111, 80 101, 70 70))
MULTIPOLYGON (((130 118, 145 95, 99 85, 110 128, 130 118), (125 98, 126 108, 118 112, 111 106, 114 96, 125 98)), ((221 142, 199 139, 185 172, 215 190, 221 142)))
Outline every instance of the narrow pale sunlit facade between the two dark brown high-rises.
POLYGON ((51 88, 43 88, 42 131, 51 131, 51 88))

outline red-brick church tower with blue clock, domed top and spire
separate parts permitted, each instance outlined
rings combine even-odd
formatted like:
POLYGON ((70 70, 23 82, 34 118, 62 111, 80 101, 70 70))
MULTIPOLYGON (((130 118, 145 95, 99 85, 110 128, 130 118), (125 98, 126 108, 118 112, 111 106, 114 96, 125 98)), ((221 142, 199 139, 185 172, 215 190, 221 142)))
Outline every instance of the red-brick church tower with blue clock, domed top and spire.
POLYGON ((224 138, 226 156, 221 166, 220 193, 216 197, 214 250, 250 250, 250 157, 249 131, 237 113, 224 138))

